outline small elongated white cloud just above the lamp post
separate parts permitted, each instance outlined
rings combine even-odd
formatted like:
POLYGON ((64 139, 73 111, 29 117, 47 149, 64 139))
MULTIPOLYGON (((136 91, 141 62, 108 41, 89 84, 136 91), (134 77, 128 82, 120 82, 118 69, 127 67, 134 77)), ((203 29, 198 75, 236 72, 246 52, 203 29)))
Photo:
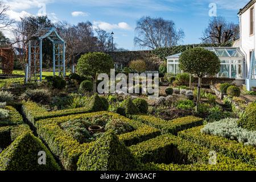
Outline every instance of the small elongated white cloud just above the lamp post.
POLYGON ((110 24, 107 22, 94 21, 93 28, 101 28, 103 30, 113 30, 113 29, 121 29, 121 30, 131 30, 129 24, 125 22, 120 22, 118 24, 110 24))

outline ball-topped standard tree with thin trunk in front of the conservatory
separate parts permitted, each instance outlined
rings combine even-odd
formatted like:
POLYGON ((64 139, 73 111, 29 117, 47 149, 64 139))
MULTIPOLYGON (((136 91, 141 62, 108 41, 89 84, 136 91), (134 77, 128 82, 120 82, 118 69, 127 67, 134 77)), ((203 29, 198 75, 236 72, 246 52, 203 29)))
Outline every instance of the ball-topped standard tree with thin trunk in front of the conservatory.
POLYGON ((179 67, 182 71, 196 75, 199 78, 197 85, 197 111, 200 101, 202 77, 207 75, 213 76, 220 72, 220 59, 212 51, 197 47, 181 53, 179 62, 179 67))

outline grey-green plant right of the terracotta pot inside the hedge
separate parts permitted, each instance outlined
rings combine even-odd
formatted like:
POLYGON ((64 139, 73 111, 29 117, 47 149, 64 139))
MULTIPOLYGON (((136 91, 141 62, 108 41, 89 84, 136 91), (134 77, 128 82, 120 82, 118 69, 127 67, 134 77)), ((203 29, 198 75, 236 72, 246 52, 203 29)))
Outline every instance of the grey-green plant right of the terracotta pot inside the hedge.
POLYGON ((105 130, 113 130, 114 134, 124 134, 129 133, 134 130, 132 126, 128 123, 121 121, 121 119, 112 119, 108 123, 106 123, 105 130))

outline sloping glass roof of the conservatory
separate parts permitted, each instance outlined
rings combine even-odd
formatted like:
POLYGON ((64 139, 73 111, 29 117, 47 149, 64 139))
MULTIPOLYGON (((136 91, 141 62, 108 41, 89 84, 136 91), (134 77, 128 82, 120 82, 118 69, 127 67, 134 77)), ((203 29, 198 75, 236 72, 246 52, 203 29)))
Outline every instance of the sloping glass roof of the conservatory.
MULTIPOLYGON (((237 47, 206 47, 209 51, 216 53, 219 58, 243 58, 245 55, 237 47)), ((179 59, 181 53, 166 57, 166 59, 179 59)))

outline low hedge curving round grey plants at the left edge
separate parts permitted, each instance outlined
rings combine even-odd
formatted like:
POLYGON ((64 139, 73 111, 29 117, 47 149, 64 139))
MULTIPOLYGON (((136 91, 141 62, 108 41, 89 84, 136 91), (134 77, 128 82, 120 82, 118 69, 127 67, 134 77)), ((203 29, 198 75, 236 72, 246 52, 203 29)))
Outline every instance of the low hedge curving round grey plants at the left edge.
POLYGON ((22 115, 13 107, 13 106, 6 106, 6 110, 9 110, 10 117, 7 119, 0 120, 0 127, 2 126, 10 126, 10 125, 20 125, 23 123, 22 115))

